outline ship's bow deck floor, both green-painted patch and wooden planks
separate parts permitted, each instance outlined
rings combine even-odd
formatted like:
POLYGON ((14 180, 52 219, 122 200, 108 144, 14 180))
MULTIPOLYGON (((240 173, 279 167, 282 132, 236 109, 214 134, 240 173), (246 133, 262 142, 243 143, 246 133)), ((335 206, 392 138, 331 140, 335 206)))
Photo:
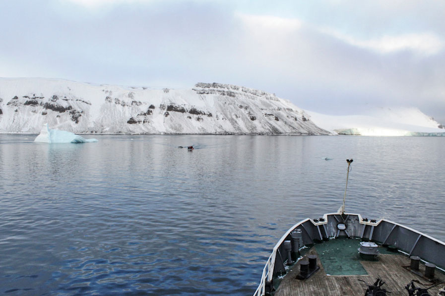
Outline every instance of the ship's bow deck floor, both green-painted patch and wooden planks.
MULTIPOLYGON (((362 296, 365 295, 367 285, 359 280, 371 285, 377 278, 385 282, 381 288, 391 292, 387 294, 390 296, 407 296, 408 292, 405 287, 412 280, 418 281, 414 284, 419 288, 424 289, 432 286, 433 283, 426 278, 403 267, 410 264, 407 255, 391 253, 385 248, 379 248, 381 254, 378 261, 363 261, 357 251, 359 243, 360 240, 356 239, 333 239, 332 243, 327 241, 316 244, 306 252, 305 257, 309 254, 318 255, 317 263, 320 269, 309 279, 297 280, 296 276, 300 272, 300 264, 297 262, 281 280, 274 295, 362 296), (326 247, 329 245, 330 248, 326 247)), ((422 275, 425 272, 425 265, 422 262, 419 272, 422 275)), ((435 283, 445 281, 445 275, 437 268, 435 279, 435 283)), ((428 292, 430 295, 436 296, 444 285, 433 287, 428 292)))

